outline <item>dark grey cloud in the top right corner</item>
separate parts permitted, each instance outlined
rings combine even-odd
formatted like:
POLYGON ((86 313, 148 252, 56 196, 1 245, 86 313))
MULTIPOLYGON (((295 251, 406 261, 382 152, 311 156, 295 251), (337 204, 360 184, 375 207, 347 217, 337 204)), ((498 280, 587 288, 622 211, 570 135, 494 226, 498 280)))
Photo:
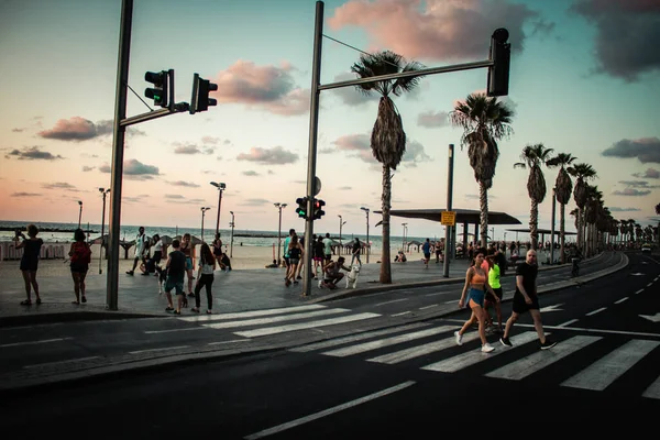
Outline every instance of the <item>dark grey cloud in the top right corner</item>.
POLYGON ((596 26, 597 69, 626 81, 660 70, 660 2, 576 0, 572 11, 596 26))

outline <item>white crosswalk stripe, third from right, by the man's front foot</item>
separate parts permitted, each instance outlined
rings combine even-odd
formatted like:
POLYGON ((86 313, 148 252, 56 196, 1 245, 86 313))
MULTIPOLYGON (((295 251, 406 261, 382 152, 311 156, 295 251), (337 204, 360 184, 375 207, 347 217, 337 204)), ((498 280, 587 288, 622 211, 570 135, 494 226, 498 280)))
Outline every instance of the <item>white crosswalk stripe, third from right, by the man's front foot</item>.
POLYGON ((550 350, 537 351, 534 354, 519 359, 516 362, 506 364, 497 370, 494 370, 487 374, 488 377, 508 378, 519 381, 536 373, 546 366, 553 364, 568 356, 571 353, 576 352, 590 345, 596 341, 603 339, 602 337, 587 337, 578 336, 565 341, 561 341, 550 350))

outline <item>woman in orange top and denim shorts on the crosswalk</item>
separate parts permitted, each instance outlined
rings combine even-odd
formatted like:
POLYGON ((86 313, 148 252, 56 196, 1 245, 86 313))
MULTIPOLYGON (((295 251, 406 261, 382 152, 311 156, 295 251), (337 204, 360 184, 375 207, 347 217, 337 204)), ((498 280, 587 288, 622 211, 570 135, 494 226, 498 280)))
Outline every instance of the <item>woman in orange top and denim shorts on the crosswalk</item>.
POLYGON ((470 306, 472 309, 472 315, 470 316, 470 319, 465 321, 463 327, 461 327, 459 331, 454 332, 454 337, 457 339, 457 344, 462 345, 463 334, 470 327, 472 327, 474 321, 477 320, 479 337, 482 342, 481 350, 484 353, 490 353, 495 349, 486 341, 486 312, 484 311, 485 292, 490 292, 497 300, 499 300, 499 298, 495 296, 493 288, 488 285, 488 275, 482 267, 482 264, 484 263, 484 250, 477 250, 476 255, 474 256, 473 265, 470 266, 465 273, 465 285, 463 286, 463 293, 461 294, 461 299, 459 300, 459 307, 463 308, 465 305, 470 306))

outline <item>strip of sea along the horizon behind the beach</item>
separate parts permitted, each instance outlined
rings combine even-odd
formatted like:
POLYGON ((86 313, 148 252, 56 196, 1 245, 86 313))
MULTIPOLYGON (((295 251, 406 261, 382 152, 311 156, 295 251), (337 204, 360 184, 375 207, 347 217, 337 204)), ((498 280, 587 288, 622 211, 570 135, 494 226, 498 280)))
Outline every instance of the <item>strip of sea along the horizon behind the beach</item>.
MULTIPOLYGON (((26 234, 25 228, 28 224, 34 223, 38 229, 38 237, 45 242, 52 243, 68 243, 74 239, 74 231, 78 228, 78 223, 50 223, 50 222, 30 222, 30 221, 9 221, 0 220, 0 242, 12 241, 14 239, 14 231, 21 229, 26 234)), ((87 232, 88 240, 94 241, 101 237, 101 226, 95 223, 81 224, 80 228, 87 232)), ((138 234, 140 226, 128 226, 122 224, 120 227, 121 240, 131 241, 138 234)), ((108 233, 108 224, 105 226, 103 233, 108 233)), ((200 238, 201 230, 199 228, 172 228, 172 227, 144 227, 147 237, 158 234, 161 237, 176 237, 189 233, 190 235, 200 238)), ((205 228, 205 241, 210 242, 213 238, 216 229, 205 228)), ((282 240, 286 238, 287 231, 282 231, 282 240)), ((231 229, 220 229, 220 237, 224 244, 229 244, 232 231, 231 229)), ((353 234, 342 234, 341 239, 343 242, 353 240, 353 234)), ((331 235, 333 240, 339 240, 339 234, 331 235)), ((364 240, 364 235, 360 235, 360 240, 364 240)), ((372 249, 382 249, 383 240, 381 235, 370 235, 369 238, 372 249)), ((403 237, 391 235, 389 244, 391 250, 398 250, 403 246, 403 237)), ((408 237, 407 241, 424 242, 426 238, 408 237)), ((233 243, 234 245, 243 246, 263 246, 272 248, 273 244, 277 244, 277 231, 254 231, 244 229, 233 230, 233 243), (242 243, 242 244, 241 244, 242 243)))

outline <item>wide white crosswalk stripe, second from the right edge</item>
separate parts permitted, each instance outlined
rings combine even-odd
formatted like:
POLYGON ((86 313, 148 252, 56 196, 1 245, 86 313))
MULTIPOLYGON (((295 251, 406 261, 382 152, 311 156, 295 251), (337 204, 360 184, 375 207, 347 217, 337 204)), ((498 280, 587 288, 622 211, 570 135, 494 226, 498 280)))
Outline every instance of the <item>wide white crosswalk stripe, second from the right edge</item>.
POLYGON ((658 341, 642 339, 628 341, 580 373, 562 382, 561 385, 571 388, 602 392, 658 345, 660 345, 658 341))

